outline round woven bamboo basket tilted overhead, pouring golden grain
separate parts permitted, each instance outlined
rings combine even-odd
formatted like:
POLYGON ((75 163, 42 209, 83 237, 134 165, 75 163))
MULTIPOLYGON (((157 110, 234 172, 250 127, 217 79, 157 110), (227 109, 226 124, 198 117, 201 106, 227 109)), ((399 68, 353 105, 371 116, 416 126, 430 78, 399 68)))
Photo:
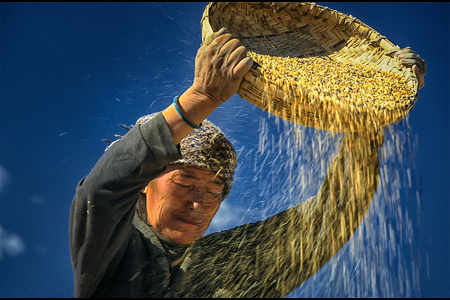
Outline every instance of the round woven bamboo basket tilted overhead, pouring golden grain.
MULTIPOLYGON (((212 2, 204 11, 201 25, 203 41, 222 27, 240 39, 255 63, 242 81, 239 96, 286 120, 334 132, 360 132, 399 121, 417 100, 417 77, 394 55, 400 47, 356 18, 336 10, 315 3, 212 2), (258 57, 267 60, 258 61, 258 57), (359 74, 375 70, 382 79, 378 86, 372 84, 368 88, 370 84, 364 78, 357 83, 341 82, 336 84, 339 88, 330 91, 321 88, 322 78, 307 80, 308 77, 294 78, 289 72, 275 74, 274 70, 282 69, 277 66, 279 59, 315 60, 319 66, 331 64, 316 72, 324 72, 325 79, 339 79, 340 68, 355 66, 363 68, 359 74), (268 61, 272 69, 267 66, 268 61), (404 81, 407 94, 403 92, 403 97, 393 96, 390 100, 380 96, 377 90, 383 88, 389 93, 389 89, 396 88, 398 78, 404 81), (342 96, 340 89, 347 89, 351 101, 342 96)), ((360 75, 352 78, 355 76, 360 75)))

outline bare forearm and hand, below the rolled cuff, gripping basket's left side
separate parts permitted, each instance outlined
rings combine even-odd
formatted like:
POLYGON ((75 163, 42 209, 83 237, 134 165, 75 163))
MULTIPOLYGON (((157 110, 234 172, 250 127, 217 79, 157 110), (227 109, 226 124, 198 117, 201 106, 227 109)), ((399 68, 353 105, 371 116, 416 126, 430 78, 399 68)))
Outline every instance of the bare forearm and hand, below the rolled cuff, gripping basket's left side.
MULTIPOLYGON (((247 49, 226 28, 209 35, 197 52, 194 83, 178 100, 182 115, 194 125, 200 124, 236 94, 252 64, 247 49)), ((163 115, 175 144, 192 131, 173 104, 163 111, 163 115)))

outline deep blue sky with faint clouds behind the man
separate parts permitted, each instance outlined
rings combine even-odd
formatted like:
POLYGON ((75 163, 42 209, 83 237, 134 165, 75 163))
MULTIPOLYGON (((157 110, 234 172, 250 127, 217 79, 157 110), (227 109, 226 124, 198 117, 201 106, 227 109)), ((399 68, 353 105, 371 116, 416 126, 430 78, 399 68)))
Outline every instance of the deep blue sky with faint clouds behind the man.
MULTIPOLYGON (((420 261, 420 284, 412 296, 448 297, 450 6, 319 4, 353 15, 427 61, 425 88, 408 125, 399 125, 415 149, 409 189, 414 201, 401 201, 401 209, 411 210, 413 252, 420 261)), ((107 146, 102 139, 124 134, 118 124, 131 125, 141 115, 164 109, 192 83, 205 6, 0 4, 1 297, 72 296, 68 216, 75 186, 102 155, 107 146)), ((267 126, 276 134, 279 122, 237 95, 210 119, 235 143, 241 161, 240 182, 210 229, 216 231, 252 221, 250 210, 262 211, 267 172, 254 166, 254 159, 263 158, 258 133, 267 126)), ((339 262, 345 266, 345 255, 339 262)), ((324 268, 317 276, 323 280, 305 284, 299 294, 354 295, 345 290, 330 294, 320 284, 339 278, 336 266, 324 268)), ((358 271, 358 265, 353 267, 358 271)), ((370 289, 362 290, 370 295, 370 289)))

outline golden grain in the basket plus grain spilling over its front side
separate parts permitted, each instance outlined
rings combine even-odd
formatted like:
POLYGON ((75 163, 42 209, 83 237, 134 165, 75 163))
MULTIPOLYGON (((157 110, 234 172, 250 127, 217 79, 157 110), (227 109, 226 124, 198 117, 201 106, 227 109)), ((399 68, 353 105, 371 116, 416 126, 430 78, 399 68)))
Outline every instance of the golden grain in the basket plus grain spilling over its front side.
POLYGON ((413 105, 414 87, 392 72, 328 57, 248 55, 265 82, 266 110, 306 126, 363 131, 391 123, 413 105))

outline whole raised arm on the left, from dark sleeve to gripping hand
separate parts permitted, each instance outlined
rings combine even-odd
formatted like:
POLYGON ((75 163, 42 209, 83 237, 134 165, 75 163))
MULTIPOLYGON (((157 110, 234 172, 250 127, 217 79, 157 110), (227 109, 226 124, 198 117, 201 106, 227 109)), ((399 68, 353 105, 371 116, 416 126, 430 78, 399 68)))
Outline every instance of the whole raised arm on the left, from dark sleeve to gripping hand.
MULTIPOLYGON (((226 29, 209 36, 197 53, 194 83, 178 101, 185 118, 200 124, 236 93, 252 65, 246 53, 226 29)), ((192 129, 171 104, 112 144, 79 182, 69 221, 76 297, 95 295, 117 269, 142 190, 181 157, 176 145, 192 129)))

